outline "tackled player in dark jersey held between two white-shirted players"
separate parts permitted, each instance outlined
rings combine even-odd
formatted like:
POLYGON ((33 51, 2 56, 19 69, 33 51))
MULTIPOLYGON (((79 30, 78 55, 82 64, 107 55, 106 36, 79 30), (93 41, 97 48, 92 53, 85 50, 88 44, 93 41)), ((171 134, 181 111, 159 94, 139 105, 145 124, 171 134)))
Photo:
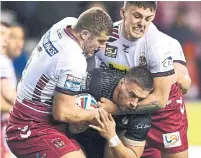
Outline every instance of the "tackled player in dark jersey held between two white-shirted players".
MULTIPOLYGON (((153 89, 152 75, 144 67, 131 68, 127 74, 109 69, 93 69, 88 73, 84 83, 85 92, 90 93, 97 101, 101 97, 112 100, 122 112, 133 110, 133 105, 138 100, 146 98, 153 89)), ((100 116, 103 120, 104 113, 100 112, 100 116)), ((111 116, 107 117, 111 118, 111 116)), ((108 137, 107 140, 112 151, 115 149, 114 153, 120 154, 119 156, 125 154, 140 157, 144 149, 146 135, 151 127, 150 113, 114 116, 114 119, 116 132, 113 133, 112 137, 118 138, 119 136, 123 144, 118 141, 116 145, 111 145, 108 137), (121 153, 121 150, 124 150, 124 153, 121 153)), ((114 121, 109 123, 114 125, 114 121)), ((111 128, 115 131, 114 126, 111 128)), ((107 132, 107 135, 110 134, 107 132)), ((104 137, 107 138, 106 135, 104 137)), ((105 139, 101 138, 97 132, 89 129, 75 135, 75 138, 84 147, 88 158, 103 157, 105 139)), ((106 146, 108 147, 108 145, 106 146)), ((108 153, 106 155, 108 156, 108 153)))

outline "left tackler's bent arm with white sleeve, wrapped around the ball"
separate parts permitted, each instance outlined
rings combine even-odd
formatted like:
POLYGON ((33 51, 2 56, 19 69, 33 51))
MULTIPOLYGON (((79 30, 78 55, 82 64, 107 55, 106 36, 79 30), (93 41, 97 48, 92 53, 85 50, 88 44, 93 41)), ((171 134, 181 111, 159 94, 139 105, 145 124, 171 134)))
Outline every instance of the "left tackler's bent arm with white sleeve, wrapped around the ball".
POLYGON ((56 76, 58 81, 53 98, 53 116, 55 120, 69 123, 91 121, 98 114, 97 110, 84 110, 76 104, 76 94, 81 91, 83 76, 86 72, 86 63, 79 56, 63 56, 57 61, 56 76), (75 61, 79 60, 77 64, 75 61), (80 65, 83 65, 82 67, 80 65))

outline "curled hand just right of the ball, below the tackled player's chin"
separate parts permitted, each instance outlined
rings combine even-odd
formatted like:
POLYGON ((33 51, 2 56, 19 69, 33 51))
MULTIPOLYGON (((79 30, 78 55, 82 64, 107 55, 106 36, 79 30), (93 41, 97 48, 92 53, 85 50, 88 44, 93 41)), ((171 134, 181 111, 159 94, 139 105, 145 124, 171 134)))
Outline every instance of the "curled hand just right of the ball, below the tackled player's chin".
POLYGON ((119 107, 107 98, 101 98, 100 101, 98 101, 98 106, 112 114, 120 112, 119 107))

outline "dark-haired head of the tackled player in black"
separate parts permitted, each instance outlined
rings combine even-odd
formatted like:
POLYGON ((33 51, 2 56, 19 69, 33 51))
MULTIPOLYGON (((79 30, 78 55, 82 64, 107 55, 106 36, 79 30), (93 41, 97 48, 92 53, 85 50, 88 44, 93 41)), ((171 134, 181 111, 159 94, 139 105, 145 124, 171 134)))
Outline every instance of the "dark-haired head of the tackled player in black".
POLYGON ((122 111, 134 109, 139 100, 146 98, 153 90, 151 72, 142 66, 131 68, 119 82, 117 104, 122 111))

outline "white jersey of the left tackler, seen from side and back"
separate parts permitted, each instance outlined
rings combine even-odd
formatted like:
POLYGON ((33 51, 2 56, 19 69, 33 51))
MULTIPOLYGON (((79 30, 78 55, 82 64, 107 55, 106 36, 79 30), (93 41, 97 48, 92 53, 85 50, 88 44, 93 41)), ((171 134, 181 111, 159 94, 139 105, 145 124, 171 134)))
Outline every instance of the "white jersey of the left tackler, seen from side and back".
POLYGON ((53 25, 41 38, 23 71, 17 87, 17 100, 37 101, 52 106, 55 89, 78 92, 86 73, 83 50, 68 27, 75 18, 53 25))

